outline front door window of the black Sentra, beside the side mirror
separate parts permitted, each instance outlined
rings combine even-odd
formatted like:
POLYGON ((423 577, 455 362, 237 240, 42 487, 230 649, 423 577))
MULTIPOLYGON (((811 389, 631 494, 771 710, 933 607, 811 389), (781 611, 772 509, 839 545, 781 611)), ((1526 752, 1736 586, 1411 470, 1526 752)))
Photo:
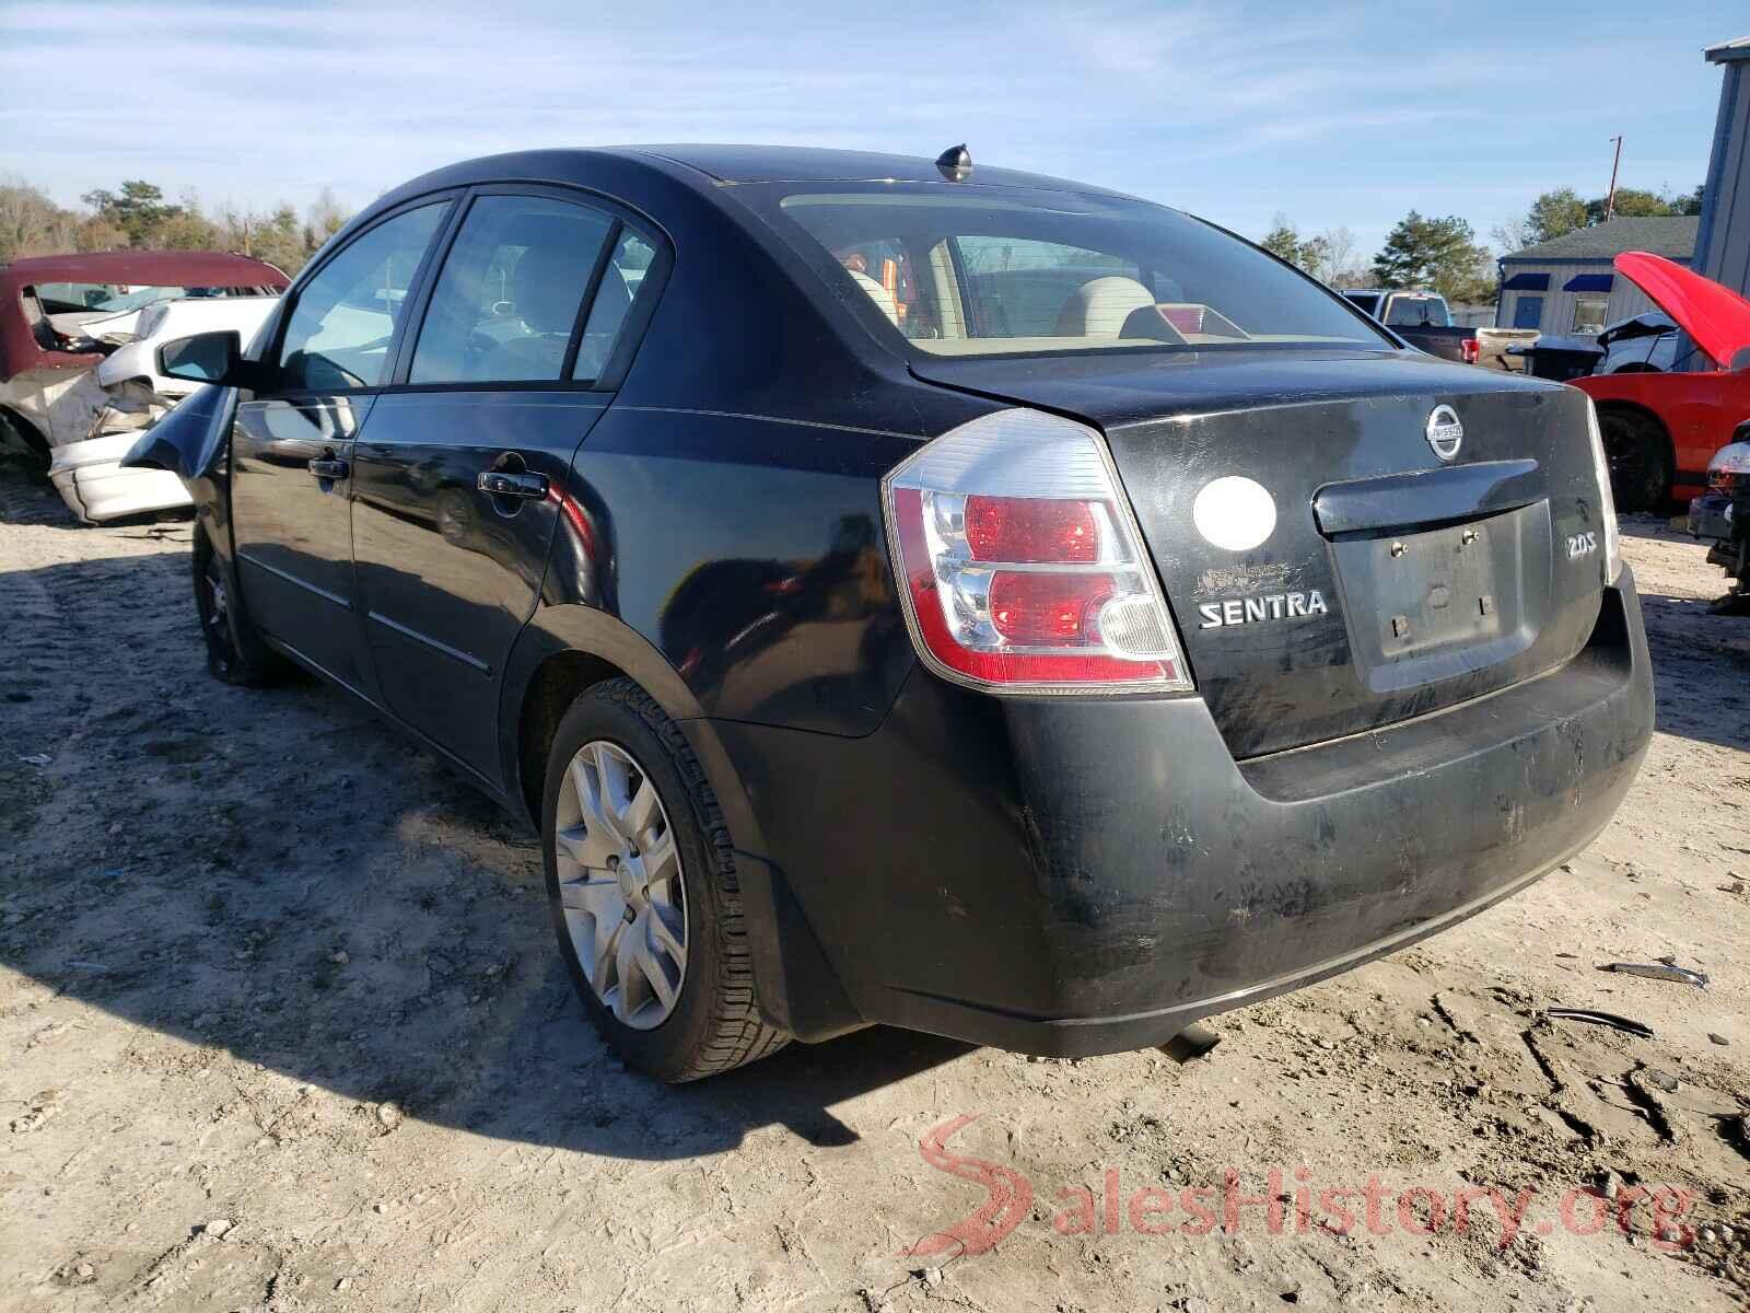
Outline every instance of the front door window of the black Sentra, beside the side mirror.
POLYGON ((299 289, 280 343, 284 390, 345 392, 387 382, 408 287, 448 208, 438 201, 385 219, 299 289))

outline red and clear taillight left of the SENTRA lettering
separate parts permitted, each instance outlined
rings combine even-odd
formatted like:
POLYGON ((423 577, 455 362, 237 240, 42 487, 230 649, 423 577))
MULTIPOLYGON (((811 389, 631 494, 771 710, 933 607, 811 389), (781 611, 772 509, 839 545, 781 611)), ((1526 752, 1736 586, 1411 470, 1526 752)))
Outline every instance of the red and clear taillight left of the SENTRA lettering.
POLYGON ((1104 439, 1057 415, 962 424, 882 481, 919 655, 1006 693, 1188 692, 1104 439))

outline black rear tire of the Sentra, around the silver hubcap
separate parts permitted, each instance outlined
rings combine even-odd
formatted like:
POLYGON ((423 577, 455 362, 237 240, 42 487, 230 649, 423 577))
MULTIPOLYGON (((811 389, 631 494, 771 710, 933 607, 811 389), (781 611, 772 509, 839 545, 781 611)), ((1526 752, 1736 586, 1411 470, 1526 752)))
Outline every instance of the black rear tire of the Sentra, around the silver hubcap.
POLYGON ((681 728, 635 681, 609 679, 584 690, 560 720, 548 751, 541 853, 560 956, 595 1028, 628 1066, 677 1084, 730 1071, 789 1042, 789 1035, 765 1022, 754 998, 746 916, 723 811, 681 728), (672 1012, 653 1029, 628 1026, 597 998, 560 902, 555 839, 560 790, 567 788, 572 758, 597 741, 616 744, 644 769, 681 856, 686 970, 672 1012))

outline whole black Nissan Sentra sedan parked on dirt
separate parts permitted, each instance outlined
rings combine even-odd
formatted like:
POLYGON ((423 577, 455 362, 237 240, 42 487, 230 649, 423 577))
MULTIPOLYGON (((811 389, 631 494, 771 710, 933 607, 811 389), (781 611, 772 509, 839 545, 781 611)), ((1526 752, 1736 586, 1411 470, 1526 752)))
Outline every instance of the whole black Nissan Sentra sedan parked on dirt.
POLYGON ((1582 394, 959 149, 457 165, 163 355, 212 672, 539 828, 665 1080, 1162 1043, 1561 863, 1652 730, 1582 394))

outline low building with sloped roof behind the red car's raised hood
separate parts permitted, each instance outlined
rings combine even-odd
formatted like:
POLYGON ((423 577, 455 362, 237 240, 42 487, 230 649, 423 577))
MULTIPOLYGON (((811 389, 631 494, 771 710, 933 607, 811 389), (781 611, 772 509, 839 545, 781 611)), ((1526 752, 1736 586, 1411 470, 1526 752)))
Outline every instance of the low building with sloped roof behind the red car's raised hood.
MULTIPOLYGON (((1745 221, 1750 224, 1750 194, 1745 221)), ((1689 264, 1701 222, 1694 215, 1612 219, 1503 256, 1494 326, 1591 338, 1606 324, 1654 310, 1647 294, 1617 273, 1612 261, 1624 250, 1650 250, 1689 264)))

